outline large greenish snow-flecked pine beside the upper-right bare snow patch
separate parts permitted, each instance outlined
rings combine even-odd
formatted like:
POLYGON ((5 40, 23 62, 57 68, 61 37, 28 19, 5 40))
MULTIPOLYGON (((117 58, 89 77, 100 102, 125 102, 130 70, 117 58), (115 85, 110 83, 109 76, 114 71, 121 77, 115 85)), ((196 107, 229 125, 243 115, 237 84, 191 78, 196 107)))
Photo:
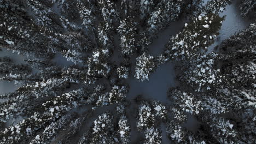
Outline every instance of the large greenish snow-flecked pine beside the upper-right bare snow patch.
POLYGON ((193 58, 214 43, 224 17, 208 13, 192 17, 182 32, 174 35, 166 45, 165 55, 171 60, 193 58))

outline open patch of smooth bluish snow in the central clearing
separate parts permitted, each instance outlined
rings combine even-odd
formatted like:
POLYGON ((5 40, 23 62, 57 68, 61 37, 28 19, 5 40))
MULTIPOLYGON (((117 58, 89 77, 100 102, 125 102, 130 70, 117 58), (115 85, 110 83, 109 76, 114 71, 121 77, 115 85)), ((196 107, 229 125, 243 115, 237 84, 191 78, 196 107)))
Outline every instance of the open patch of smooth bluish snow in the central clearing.
POLYGON ((141 94, 146 99, 160 100, 162 103, 167 102, 166 92, 168 88, 176 86, 174 81, 174 64, 168 62, 161 65, 159 69, 149 76, 149 81, 139 82, 133 77, 128 79, 130 91, 127 98, 132 100, 141 94))

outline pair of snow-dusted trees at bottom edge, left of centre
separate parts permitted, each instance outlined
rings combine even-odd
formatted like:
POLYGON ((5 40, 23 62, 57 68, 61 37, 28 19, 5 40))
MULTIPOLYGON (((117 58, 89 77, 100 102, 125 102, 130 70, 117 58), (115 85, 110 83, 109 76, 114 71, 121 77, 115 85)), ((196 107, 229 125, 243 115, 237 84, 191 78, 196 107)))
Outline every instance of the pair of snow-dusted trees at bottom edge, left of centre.
POLYGON ((118 115, 118 121, 115 122, 113 114, 106 112, 95 119, 78 143, 129 143, 130 133, 125 115, 118 115))

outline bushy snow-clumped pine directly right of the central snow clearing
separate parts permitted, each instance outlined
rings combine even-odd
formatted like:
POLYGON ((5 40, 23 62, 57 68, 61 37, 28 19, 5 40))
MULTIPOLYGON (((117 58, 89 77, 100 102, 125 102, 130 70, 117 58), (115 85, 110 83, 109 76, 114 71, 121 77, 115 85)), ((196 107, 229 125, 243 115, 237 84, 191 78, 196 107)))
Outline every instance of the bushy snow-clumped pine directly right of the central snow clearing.
POLYGON ((177 66, 181 70, 177 78, 197 92, 220 88, 224 85, 225 77, 217 67, 218 59, 217 53, 198 53, 193 59, 177 66))

